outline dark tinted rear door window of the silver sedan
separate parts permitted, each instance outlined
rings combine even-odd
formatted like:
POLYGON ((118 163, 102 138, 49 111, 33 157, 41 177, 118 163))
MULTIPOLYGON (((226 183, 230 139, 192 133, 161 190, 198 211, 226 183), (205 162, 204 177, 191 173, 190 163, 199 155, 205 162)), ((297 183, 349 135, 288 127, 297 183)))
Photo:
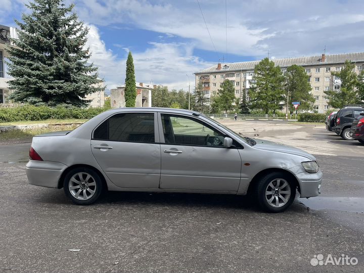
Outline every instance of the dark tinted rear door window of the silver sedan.
POLYGON ((104 121, 95 131, 94 140, 153 143, 153 113, 122 113, 104 121))

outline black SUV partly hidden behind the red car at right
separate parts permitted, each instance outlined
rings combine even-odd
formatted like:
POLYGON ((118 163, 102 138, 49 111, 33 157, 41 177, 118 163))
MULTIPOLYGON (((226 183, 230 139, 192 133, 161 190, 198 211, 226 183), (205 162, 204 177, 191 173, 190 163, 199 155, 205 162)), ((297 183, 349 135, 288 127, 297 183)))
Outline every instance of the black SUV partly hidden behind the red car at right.
POLYGON ((350 134, 350 127, 353 120, 357 118, 360 113, 364 113, 364 108, 350 107, 340 109, 336 114, 333 131, 340 135, 344 140, 354 140, 350 134))

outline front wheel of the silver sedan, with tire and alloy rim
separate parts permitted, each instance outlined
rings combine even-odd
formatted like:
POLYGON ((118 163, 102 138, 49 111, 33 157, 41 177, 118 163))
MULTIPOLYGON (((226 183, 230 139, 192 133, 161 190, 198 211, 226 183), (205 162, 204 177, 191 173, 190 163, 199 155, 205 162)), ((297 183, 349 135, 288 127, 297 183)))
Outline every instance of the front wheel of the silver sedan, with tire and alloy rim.
POLYGON ((296 184, 284 172, 271 172, 257 181, 255 198, 259 207, 267 212, 283 212, 291 206, 296 196, 296 184), (276 188, 278 185, 278 188, 276 188), (266 195, 266 192, 272 194, 266 195), (283 194, 283 192, 285 192, 283 194), (278 200, 278 204, 277 204, 278 200))

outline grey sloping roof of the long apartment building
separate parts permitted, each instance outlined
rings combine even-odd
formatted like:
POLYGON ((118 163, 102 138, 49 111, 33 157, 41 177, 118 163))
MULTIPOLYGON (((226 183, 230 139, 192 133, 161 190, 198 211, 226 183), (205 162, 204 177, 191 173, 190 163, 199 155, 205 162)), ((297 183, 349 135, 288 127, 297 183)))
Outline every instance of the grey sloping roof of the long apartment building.
MULTIPOLYGON (((321 62, 322 56, 310 56, 310 57, 298 57, 298 58, 283 58, 283 59, 271 59, 275 65, 280 67, 288 67, 291 65, 301 65, 301 66, 311 66, 311 65, 327 65, 327 64, 340 64, 344 63, 346 60, 351 60, 352 62, 364 62, 364 52, 361 53, 345 53, 336 55, 326 55, 325 62, 321 62)), ((217 64, 209 68, 195 72, 195 74, 220 72, 220 71, 240 71, 240 70, 254 70, 254 67, 260 61, 251 62, 240 62, 240 63, 226 63, 221 64, 221 69, 217 69, 217 64), (228 66, 224 68, 224 66, 228 66)))

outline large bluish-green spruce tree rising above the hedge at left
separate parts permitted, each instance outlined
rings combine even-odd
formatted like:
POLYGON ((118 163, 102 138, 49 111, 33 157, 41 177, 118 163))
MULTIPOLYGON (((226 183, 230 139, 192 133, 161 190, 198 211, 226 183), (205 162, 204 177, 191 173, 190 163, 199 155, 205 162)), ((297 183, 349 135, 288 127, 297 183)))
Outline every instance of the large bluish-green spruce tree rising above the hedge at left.
POLYGON ((63 0, 34 0, 18 25, 9 52, 9 99, 35 105, 87 106, 88 94, 102 92, 97 67, 88 63, 88 28, 63 0))

